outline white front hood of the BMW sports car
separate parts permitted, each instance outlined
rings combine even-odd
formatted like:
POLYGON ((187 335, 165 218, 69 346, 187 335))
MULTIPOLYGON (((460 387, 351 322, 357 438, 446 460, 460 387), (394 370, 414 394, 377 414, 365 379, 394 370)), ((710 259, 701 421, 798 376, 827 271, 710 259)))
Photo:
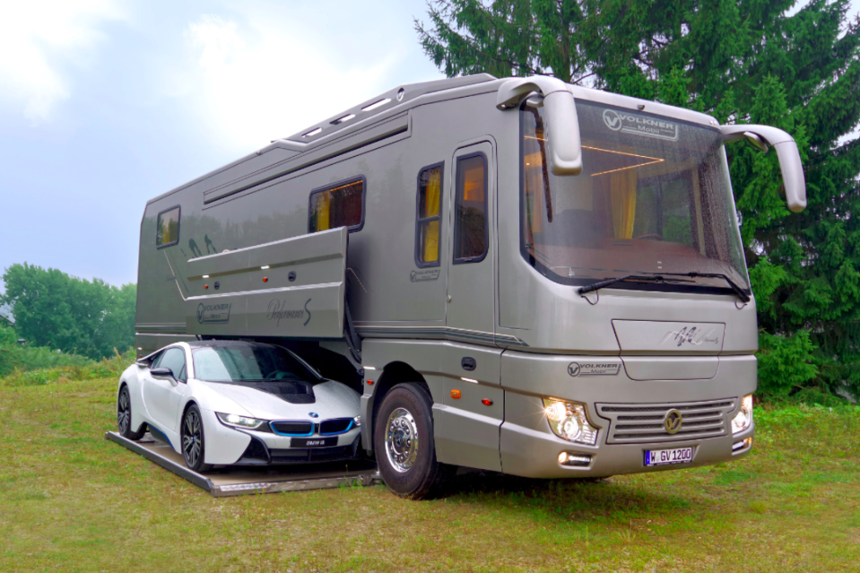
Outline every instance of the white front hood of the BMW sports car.
MULTIPOLYGON (((241 405, 260 420, 323 421, 332 418, 353 418, 359 415, 361 396, 340 382, 328 380, 314 386, 314 404, 291 404, 277 395, 239 384, 204 382, 213 391, 241 405), (310 412, 317 413, 314 418, 310 412)), ((233 413, 233 412, 224 412, 233 413)))

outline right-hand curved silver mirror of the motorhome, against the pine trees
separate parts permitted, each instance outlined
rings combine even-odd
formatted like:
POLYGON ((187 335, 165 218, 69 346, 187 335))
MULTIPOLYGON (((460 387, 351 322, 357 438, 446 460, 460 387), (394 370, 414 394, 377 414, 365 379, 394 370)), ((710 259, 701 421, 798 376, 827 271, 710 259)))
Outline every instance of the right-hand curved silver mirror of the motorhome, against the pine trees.
POLYGON ((788 210, 800 213, 806 208, 804 165, 791 135, 771 126, 720 126, 720 132, 725 143, 743 138, 761 152, 768 152, 768 145, 777 150, 788 210))

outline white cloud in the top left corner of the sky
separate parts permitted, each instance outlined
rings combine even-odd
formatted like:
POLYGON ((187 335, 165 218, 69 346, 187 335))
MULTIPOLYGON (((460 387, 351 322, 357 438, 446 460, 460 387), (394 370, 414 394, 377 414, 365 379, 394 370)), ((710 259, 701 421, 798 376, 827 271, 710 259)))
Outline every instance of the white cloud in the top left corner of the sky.
POLYGON ((86 67, 103 22, 124 18, 114 0, 10 2, 0 19, 0 103, 48 122, 71 96, 65 65, 86 67))

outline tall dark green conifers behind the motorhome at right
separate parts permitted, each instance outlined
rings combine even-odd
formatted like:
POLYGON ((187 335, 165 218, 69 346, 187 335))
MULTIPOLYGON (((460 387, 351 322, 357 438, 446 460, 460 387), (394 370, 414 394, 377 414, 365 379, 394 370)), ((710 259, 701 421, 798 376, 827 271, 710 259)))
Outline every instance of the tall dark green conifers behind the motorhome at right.
POLYGON ((437 0, 421 46, 448 76, 554 75, 795 137, 809 206, 776 153, 727 147, 760 326, 760 389, 860 395, 860 16, 848 0, 437 0))

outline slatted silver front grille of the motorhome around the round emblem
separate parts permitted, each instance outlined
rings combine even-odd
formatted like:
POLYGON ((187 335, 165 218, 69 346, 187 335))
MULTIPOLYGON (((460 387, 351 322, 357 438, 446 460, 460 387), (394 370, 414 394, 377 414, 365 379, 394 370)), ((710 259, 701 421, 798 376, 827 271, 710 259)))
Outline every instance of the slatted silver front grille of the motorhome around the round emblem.
POLYGON ((674 442, 725 436, 725 414, 734 410, 734 398, 676 404, 596 404, 597 415, 610 420, 607 444, 674 442), (681 430, 670 434, 663 421, 666 412, 682 415, 681 430))

